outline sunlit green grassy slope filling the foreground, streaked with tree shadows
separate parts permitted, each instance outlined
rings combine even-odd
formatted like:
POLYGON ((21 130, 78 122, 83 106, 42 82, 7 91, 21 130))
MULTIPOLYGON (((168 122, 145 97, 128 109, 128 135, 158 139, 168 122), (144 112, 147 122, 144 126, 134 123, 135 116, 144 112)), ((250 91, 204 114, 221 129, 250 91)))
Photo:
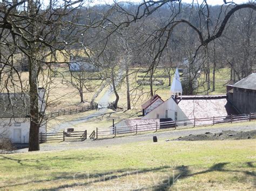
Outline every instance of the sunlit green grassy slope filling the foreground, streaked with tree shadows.
POLYGON ((253 189, 255 140, 0 155, 0 189, 253 189))

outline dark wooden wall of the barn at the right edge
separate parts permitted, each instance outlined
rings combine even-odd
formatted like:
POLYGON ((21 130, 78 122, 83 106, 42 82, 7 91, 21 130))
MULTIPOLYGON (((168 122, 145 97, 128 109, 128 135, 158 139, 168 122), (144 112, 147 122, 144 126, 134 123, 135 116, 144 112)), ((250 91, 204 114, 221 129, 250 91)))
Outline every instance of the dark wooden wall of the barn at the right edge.
POLYGON ((234 87, 232 103, 242 114, 256 112, 256 90, 234 87))

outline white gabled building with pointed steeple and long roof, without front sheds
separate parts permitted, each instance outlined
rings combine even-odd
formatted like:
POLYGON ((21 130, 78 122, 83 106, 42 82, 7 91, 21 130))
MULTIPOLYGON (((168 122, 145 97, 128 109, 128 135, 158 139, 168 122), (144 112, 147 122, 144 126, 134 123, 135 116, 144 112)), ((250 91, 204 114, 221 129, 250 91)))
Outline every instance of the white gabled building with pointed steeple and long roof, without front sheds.
POLYGON ((226 94, 183 96, 182 91, 177 68, 172 81, 171 97, 159 104, 142 119, 159 118, 160 122, 166 122, 238 114, 232 104, 227 101, 226 94))

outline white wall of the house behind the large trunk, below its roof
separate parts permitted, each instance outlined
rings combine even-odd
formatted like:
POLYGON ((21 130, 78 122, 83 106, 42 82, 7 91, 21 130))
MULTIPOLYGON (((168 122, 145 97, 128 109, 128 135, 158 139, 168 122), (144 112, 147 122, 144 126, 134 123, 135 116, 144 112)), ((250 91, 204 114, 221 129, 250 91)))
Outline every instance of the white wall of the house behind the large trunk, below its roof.
MULTIPOLYGON (((9 137, 12 143, 29 143, 29 128, 29 118, 0 118, 0 138, 9 137), (15 140, 15 129, 21 130, 20 139, 16 137, 15 140)), ((39 132, 46 133, 46 125, 43 125, 39 132)))

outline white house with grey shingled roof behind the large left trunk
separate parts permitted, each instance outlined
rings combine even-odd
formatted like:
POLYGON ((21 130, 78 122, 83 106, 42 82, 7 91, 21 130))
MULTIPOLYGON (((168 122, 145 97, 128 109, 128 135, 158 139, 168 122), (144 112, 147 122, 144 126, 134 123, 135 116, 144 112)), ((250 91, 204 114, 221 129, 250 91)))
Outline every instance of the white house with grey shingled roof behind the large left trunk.
MULTIPOLYGON (((44 89, 38 89, 39 110, 45 110, 44 89)), ((21 93, 0 94, 0 138, 12 143, 29 143, 30 97, 21 93)), ((46 124, 39 132, 46 133, 46 124)))

